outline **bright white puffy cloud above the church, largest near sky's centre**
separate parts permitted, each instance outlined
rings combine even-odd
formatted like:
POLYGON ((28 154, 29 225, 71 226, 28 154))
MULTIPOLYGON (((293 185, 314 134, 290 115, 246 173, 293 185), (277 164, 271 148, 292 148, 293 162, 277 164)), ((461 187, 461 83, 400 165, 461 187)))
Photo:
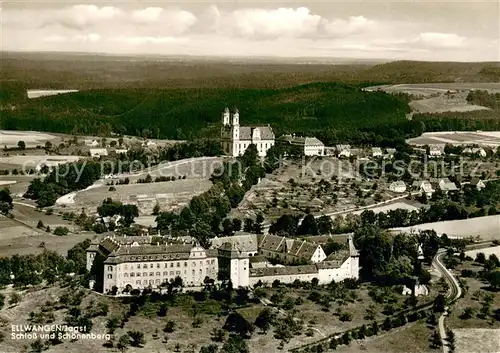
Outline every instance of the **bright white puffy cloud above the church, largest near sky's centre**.
POLYGON ((234 34, 257 38, 313 35, 321 21, 321 16, 312 15, 305 7, 276 10, 242 9, 222 17, 225 17, 225 20, 220 21, 220 25, 231 29, 234 34))

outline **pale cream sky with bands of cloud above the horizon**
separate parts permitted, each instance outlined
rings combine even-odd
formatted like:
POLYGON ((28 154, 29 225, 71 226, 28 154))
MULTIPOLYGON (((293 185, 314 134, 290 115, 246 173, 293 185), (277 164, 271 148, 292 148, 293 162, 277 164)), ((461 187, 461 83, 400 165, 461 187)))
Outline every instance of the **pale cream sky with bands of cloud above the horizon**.
POLYGON ((500 61, 500 2, 1 3, 6 51, 500 61))

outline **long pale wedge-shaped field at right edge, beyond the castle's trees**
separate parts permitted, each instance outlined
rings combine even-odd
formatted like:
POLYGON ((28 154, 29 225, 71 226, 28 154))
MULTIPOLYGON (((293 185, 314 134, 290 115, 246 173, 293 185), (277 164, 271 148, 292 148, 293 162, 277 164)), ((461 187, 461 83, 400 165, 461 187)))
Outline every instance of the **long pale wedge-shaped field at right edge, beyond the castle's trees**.
POLYGON ((438 234, 455 237, 475 237, 479 235, 483 240, 500 239, 500 215, 424 223, 412 227, 398 228, 397 230, 411 232, 426 229, 433 229, 438 234))

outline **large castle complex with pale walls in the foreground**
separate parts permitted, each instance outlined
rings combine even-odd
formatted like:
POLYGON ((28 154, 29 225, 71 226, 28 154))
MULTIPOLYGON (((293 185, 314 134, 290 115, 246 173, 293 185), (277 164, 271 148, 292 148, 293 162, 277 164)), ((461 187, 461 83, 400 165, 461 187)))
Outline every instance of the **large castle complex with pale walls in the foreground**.
POLYGON ((317 278, 320 284, 327 284, 359 278, 359 254, 352 239, 347 250, 330 256, 319 244, 270 234, 214 238, 208 249, 151 242, 148 236, 94 240, 87 249, 87 269, 97 274, 94 288, 117 294, 161 289, 177 277, 188 289, 203 286, 206 278, 231 280, 234 287, 275 280, 292 283, 317 278))

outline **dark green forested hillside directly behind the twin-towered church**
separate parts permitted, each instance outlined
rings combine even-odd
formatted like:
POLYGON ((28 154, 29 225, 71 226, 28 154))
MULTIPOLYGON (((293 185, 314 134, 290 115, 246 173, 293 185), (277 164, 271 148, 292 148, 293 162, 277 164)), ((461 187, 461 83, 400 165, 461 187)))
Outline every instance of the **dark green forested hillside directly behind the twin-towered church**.
POLYGON ((242 124, 337 142, 350 130, 387 131, 405 122, 403 96, 314 83, 283 89, 111 89, 28 100, 2 113, 1 127, 72 134, 119 132, 154 138, 218 136, 220 114, 237 105, 242 124), (351 128, 355 127, 355 128, 351 128))

